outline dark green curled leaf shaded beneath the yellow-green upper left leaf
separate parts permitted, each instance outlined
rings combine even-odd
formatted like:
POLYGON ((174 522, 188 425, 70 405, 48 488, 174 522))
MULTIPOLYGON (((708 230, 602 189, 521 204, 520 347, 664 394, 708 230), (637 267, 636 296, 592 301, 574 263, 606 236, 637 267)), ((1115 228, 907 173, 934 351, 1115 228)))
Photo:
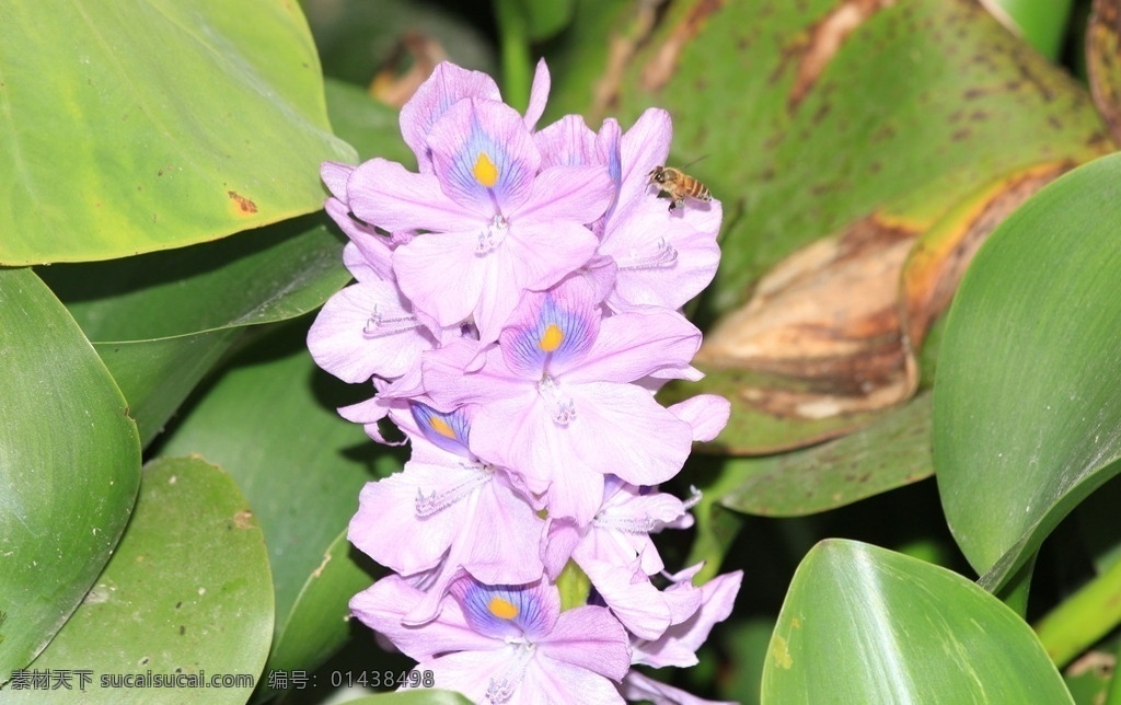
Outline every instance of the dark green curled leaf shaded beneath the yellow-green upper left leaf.
POLYGON ((220 242, 43 268, 113 373, 147 445, 245 326, 293 318, 349 279, 323 213, 220 242))

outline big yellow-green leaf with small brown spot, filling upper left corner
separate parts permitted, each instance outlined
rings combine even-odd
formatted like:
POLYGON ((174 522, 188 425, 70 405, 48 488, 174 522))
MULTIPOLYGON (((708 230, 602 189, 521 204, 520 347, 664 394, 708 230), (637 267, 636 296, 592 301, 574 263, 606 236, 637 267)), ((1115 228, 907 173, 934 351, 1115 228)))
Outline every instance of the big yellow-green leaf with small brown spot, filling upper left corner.
POLYGON ((101 260, 321 207, 331 134, 295 2, 0 10, 0 262, 101 260))

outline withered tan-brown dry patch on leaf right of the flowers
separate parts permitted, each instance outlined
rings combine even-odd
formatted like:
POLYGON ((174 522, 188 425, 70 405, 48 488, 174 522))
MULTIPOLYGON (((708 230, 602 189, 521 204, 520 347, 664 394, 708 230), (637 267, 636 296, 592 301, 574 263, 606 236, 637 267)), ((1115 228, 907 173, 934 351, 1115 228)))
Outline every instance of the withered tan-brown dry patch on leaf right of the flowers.
POLYGON ((819 419, 906 399, 917 369, 900 336, 898 282, 918 232, 873 214, 795 252, 707 335, 697 363, 789 380, 740 390, 771 416, 819 419))

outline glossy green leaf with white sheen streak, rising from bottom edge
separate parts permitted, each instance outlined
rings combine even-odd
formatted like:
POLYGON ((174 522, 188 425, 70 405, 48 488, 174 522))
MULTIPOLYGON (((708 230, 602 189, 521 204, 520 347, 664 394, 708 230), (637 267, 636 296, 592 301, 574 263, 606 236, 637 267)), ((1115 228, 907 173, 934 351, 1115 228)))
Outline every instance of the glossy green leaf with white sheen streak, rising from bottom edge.
POLYGON ((966 578, 831 539, 795 573, 763 703, 1071 703, 1031 629, 966 578))

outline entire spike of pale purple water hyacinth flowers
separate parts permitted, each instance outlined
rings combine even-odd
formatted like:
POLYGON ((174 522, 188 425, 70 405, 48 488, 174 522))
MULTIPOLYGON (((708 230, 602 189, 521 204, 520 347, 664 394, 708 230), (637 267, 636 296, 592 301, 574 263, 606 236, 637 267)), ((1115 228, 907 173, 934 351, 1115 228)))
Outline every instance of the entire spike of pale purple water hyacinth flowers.
POLYGON ((664 111, 626 133, 577 115, 537 129, 548 83, 541 63, 522 115, 485 74, 442 64, 401 110, 418 173, 323 166, 355 284, 308 346, 372 380, 344 417, 382 443, 388 418, 411 446, 350 526, 397 575, 351 610, 475 701, 691 702, 631 667, 696 662, 741 578, 695 587, 700 566, 665 573, 650 539, 691 525, 657 485, 728 420, 719 397, 654 397, 700 377, 679 309, 715 273, 721 205, 671 210, 649 187, 664 111), (562 610, 562 572, 586 604, 562 610))

